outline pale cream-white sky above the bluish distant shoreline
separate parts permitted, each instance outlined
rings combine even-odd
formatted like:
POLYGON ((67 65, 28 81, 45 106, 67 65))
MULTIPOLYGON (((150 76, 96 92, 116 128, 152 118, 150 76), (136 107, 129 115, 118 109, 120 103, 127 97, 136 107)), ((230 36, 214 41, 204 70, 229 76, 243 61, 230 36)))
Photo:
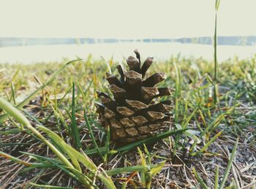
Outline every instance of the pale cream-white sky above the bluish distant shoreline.
MULTIPOLYGON (((215 0, 0 0, 0 36, 212 36, 215 0)), ((256 0, 221 0, 218 35, 256 35, 256 0)))

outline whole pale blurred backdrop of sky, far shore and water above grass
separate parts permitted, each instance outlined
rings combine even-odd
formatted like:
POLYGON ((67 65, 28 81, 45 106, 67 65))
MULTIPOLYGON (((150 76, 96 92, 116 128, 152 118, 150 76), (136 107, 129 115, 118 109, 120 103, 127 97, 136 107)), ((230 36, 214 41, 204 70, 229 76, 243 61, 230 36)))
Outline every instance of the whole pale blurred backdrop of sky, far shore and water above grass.
MULTIPOLYGON (((214 59, 214 0, 0 1, 0 63, 111 58, 140 50, 214 59)), ((256 53, 256 1, 221 1, 218 61, 256 53), (246 20, 246 21, 244 21, 246 20)))

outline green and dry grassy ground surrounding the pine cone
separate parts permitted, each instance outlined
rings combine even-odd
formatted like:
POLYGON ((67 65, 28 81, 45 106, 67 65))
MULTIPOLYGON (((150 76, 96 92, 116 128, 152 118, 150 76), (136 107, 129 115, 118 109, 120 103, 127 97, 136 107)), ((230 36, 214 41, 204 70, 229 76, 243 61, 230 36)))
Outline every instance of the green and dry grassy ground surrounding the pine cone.
POLYGON ((256 188, 255 58, 219 63, 216 80, 201 58, 155 62, 173 126, 131 144, 94 105, 116 62, 0 64, 0 188, 256 188))

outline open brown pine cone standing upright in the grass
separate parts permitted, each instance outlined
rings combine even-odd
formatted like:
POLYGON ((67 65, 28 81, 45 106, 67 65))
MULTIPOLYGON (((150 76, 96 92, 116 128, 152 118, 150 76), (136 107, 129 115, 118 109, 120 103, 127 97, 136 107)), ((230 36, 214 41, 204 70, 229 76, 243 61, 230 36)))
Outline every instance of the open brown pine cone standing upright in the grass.
POLYGON ((101 99, 101 103, 96 103, 99 120, 105 128, 110 126, 112 139, 118 142, 145 139, 168 130, 172 124, 171 101, 157 103, 153 99, 170 96, 173 89, 154 87, 158 82, 165 80, 165 74, 162 72, 143 80, 153 63, 153 58, 146 58, 140 66, 140 53, 138 50, 134 52, 136 58, 127 58, 129 72, 125 72, 121 65, 118 65, 119 79, 107 73, 114 99, 106 93, 97 92, 101 99))

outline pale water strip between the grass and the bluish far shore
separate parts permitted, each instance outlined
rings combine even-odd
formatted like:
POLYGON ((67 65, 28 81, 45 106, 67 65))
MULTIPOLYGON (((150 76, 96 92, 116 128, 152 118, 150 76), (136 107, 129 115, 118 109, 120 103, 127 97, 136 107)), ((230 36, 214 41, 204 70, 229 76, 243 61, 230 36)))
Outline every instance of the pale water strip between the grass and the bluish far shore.
MULTIPOLYGON (((132 51, 138 48, 142 58, 153 56, 157 60, 166 60, 172 55, 181 54, 181 57, 203 57, 213 60, 214 48, 211 45, 181 44, 167 42, 123 42, 111 44, 87 44, 87 45, 42 45, 26 47, 1 47, 0 63, 37 63, 48 61, 63 61, 76 58, 87 58, 92 54, 94 58, 101 57, 106 60, 113 55, 115 61, 121 61, 124 57, 132 55, 132 51)), ((240 59, 251 58, 256 53, 256 46, 230 46, 219 45, 217 51, 218 61, 237 56, 240 59)))

